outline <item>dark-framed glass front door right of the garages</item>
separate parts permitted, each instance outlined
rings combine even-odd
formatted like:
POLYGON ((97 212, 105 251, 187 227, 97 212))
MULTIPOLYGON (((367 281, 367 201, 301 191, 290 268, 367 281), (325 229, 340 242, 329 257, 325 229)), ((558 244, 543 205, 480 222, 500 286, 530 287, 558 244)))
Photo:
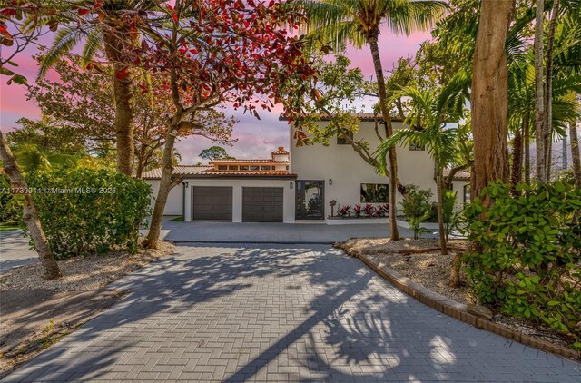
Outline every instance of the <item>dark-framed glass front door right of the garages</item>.
POLYGON ((325 182, 297 181, 297 220, 323 220, 325 218, 325 182))

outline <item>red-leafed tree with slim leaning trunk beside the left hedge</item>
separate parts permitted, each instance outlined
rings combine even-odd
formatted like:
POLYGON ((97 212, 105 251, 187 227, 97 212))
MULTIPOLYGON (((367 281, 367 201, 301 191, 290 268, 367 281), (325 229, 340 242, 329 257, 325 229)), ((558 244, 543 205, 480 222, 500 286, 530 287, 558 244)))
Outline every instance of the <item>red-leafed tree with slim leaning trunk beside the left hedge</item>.
POLYGON ((147 243, 158 245, 162 214, 173 184, 172 152, 183 131, 203 129, 196 116, 232 103, 258 117, 280 100, 279 84, 293 73, 314 75, 302 57, 302 41, 287 32, 298 28, 300 15, 280 2, 256 0, 176 0, 157 12, 133 15, 143 31, 136 63, 166 74, 162 92, 171 94, 172 113, 163 152, 162 178, 147 243))

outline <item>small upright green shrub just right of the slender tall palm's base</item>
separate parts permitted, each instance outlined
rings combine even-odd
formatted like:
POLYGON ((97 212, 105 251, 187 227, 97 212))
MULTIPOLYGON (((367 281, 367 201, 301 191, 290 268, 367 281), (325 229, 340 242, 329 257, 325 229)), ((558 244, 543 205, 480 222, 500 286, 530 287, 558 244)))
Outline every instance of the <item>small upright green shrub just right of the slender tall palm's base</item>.
POLYGON ((421 226, 431 213, 432 191, 429 189, 419 189, 417 185, 406 185, 406 197, 401 201, 401 211, 408 220, 409 229, 414 232, 414 239, 417 240, 428 229, 421 226))

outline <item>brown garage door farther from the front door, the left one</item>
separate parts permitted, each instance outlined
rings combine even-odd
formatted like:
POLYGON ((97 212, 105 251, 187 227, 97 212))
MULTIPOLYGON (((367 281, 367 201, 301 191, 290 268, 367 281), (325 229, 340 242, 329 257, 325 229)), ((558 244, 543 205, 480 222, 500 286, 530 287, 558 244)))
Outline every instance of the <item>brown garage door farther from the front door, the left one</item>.
POLYGON ((193 221, 232 221, 232 188, 193 187, 193 221))

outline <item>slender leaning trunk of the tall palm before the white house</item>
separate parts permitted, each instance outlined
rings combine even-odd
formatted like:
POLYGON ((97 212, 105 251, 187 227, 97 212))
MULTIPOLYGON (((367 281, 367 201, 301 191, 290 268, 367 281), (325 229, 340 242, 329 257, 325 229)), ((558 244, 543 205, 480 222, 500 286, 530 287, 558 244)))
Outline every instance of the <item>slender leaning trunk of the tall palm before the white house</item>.
MULTIPOLYGON (((371 56, 373 57, 373 65, 375 67, 375 74, 378 77, 379 89, 379 105, 381 107, 381 114, 383 114, 383 121, 385 123, 386 138, 393 135, 393 126, 391 124, 391 117, 389 116, 388 97, 385 88, 385 79, 383 77, 383 68, 381 66, 381 58, 379 57, 378 47, 379 29, 374 30, 368 36, 369 47, 371 48, 371 56)), ((392 241, 399 240, 398 222, 396 221, 397 207, 397 179, 398 179, 398 159, 396 156, 395 145, 389 149, 389 232, 392 241)))

